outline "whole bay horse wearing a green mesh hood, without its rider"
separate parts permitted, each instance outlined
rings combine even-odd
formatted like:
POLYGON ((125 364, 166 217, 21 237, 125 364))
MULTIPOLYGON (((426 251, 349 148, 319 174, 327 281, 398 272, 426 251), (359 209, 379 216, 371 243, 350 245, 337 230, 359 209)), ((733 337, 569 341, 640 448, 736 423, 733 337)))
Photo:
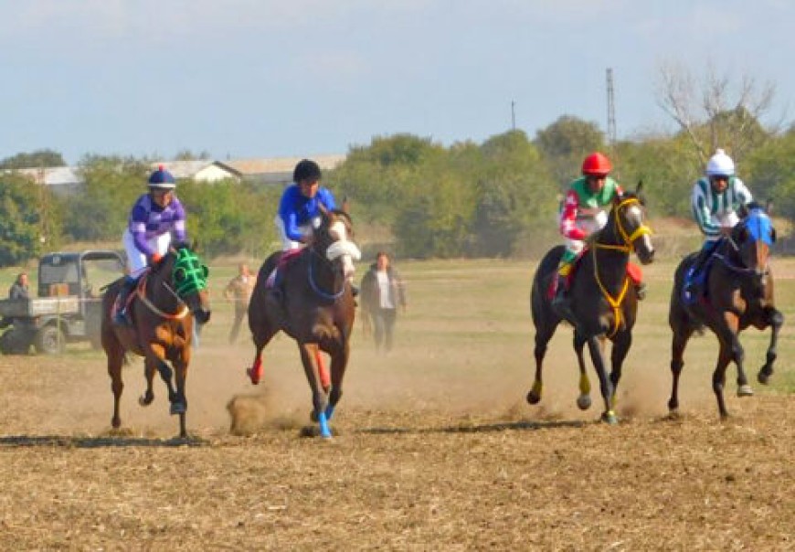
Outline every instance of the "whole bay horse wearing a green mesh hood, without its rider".
POLYGON ((152 387, 157 371, 168 387, 172 415, 179 415, 179 436, 185 430, 185 377, 190 364, 194 322, 210 318, 207 292, 207 265, 186 244, 171 249, 157 264, 144 272, 127 307, 129 326, 113 324, 116 298, 122 280, 114 281, 102 296, 101 341, 108 357, 108 374, 113 391, 111 425, 119 429, 119 401, 122 398, 122 365, 126 353, 143 356, 146 391, 138 402, 148 406, 154 400, 152 387), (169 366, 171 363, 171 366, 169 366), (172 369, 173 366, 173 369, 172 369))

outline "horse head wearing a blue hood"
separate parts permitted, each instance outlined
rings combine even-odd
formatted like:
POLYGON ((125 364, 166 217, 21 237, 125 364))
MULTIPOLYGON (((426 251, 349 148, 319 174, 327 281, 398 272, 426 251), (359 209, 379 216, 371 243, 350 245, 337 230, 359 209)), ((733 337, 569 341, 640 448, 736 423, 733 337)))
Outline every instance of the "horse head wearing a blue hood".
POLYGON ((776 242, 776 228, 762 207, 752 202, 743 208, 740 222, 732 229, 729 242, 740 265, 753 274, 754 288, 762 292, 767 284, 770 249, 776 242))

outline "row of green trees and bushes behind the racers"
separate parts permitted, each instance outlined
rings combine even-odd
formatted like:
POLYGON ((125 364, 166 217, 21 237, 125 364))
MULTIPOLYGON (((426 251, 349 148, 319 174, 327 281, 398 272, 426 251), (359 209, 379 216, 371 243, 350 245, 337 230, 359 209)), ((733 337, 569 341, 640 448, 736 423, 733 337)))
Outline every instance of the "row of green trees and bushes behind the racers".
MULTIPOLYGON (((360 235, 387 236, 403 257, 537 255, 557 239, 560 198, 593 151, 610 155, 625 188, 644 182, 650 218, 690 218, 691 189, 703 174, 705 152, 714 149, 709 140, 717 125, 744 133, 740 154, 727 149, 752 193, 771 202, 779 217, 795 219, 795 127, 765 130, 748 122, 753 116, 743 108, 714 117, 671 135, 613 144, 597 123, 572 116, 560 117, 533 139, 515 130, 483 143, 445 147, 413 134, 380 136, 352 147, 345 163, 324 175, 323 185, 338 201, 348 199, 360 235), (743 130, 737 130, 739 122, 743 130), (706 146, 696 147, 699 135, 706 146)), ((61 159, 43 154, 48 161, 61 159)), ((2 266, 74 241, 120 241, 151 171, 148 159, 88 155, 79 164, 82 191, 61 197, 14 171, 21 162, 41 159, 32 153, 0 162, 6 169, 0 173, 2 266)), ((264 258, 278 247, 273 218, 281 186, 187 180, 179 182, 177 196, 188 212, 190 234, 209 256, 243 252, 264 258)))

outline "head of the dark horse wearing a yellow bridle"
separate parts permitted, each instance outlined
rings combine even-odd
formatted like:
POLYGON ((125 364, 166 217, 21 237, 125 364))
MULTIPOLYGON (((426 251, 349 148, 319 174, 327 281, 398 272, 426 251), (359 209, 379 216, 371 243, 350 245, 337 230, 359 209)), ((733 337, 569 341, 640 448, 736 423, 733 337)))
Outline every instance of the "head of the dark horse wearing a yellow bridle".
POLYGON ((624 192, 613 200, 605 229, 616 245, 634 249, 643 264, 654 260, 652 229, 646 226, 646 208, 640 195, 642 182, 635 192, 624 192))

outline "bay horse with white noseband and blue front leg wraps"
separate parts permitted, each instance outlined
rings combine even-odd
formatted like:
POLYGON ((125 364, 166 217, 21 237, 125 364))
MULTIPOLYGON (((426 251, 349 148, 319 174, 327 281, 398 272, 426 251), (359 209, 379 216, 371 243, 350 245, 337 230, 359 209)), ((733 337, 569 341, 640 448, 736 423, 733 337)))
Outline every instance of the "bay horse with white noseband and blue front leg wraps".
POLYGON ((353 239, 353 224, 345 211, 324 211, 307 247, 289 251, 285 257, 290 260, 282 263, 282 251, 265 260, 249 302, 249 328, 256 349, 253 366, 248 369, 251 383, 256 385, 262 376, 265 345, 280 331, 290 335, 301 353, 303 371, 312 389, 312 419, 319 424, 323 438, 332 436, 329 421, 342 397, 350 356, 355 302, 349 279, 353 260, 361 258, 353 239), (274 297, 268 281, 277 266, 282 272, 281 301, 274 297), (323 385, 320 351, 331 356, 328 388, 323 385))

